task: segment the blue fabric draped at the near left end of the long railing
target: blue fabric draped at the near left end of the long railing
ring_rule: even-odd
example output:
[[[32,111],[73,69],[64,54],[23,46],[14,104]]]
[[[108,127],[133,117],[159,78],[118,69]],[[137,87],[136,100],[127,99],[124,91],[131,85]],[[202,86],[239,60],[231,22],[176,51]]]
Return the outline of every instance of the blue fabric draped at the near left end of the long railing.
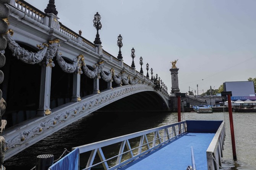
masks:
[[[51,170],[79,170],[78,167],[79,149],[76,148],[55,164],[50,166]]]

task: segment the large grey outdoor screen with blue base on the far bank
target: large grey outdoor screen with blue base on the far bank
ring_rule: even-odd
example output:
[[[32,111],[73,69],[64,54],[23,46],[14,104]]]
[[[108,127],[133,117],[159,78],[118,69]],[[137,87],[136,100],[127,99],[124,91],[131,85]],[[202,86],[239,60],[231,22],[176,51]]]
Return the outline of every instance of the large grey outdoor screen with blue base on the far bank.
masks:
[[[253,81],[231,81],[223,83],[224,91],[232,92],[232,98],[237,100],[255,100]]]

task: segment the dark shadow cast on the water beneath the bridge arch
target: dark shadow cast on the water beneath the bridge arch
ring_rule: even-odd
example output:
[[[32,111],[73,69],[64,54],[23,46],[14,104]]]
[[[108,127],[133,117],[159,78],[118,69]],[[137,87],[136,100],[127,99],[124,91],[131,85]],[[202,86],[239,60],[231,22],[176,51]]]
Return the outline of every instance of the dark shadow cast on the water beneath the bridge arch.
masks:
[[[16,154],[4,166],[8,170],[30,170],[40,154],[53,154],[57,160],[64,148],[71,151],[75,146],[161,126],[169,114],[165,111],[94,112]]]

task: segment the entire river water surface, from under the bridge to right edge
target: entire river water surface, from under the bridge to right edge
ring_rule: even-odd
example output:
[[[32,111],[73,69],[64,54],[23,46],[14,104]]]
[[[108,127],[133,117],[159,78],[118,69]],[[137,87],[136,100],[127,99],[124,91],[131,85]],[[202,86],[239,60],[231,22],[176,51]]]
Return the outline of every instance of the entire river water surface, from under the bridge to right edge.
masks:
[[[233,113],[237,160],[233,160],[228,112],[182,113],[181,120],[225,120],[226,140],[222,167],[232,170],[256,170],[256,113]],[[99,112],[50,135],[4,162],[6,170],[31,170],[36,156],[53,154],[58,159],[64,148],[105,140],[141,130],[177,122],[177,113],[170,112]]]

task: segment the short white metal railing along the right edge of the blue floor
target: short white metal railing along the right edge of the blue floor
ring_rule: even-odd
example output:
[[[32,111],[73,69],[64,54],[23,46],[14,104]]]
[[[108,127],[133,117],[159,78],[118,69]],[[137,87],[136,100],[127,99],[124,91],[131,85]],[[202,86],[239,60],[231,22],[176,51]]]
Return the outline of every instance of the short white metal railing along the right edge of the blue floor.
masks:
[[[223,121],[206,151],[208,170],[219,170],[225,136],[225,122]]]

